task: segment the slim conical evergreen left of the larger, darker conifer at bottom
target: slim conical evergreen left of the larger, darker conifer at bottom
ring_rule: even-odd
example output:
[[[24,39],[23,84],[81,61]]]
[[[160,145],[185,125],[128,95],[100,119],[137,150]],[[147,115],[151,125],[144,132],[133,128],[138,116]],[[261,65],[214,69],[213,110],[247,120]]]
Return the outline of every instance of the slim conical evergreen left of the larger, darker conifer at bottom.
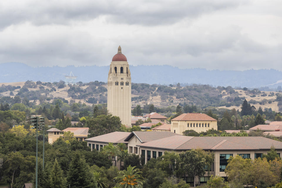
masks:
[[[53,164],[53,168],[49,175],[50,187],[63,188],[66,187],[66,178],[64,177],[63,170],[61,169],[57,159]]]

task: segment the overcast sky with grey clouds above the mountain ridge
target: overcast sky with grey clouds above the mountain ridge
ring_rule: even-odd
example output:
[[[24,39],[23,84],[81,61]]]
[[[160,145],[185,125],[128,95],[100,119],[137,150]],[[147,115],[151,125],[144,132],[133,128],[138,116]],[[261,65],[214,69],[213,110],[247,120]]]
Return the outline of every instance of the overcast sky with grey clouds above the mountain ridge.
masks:
[[[281,0],[0,1],[0,63],[282,70]]]

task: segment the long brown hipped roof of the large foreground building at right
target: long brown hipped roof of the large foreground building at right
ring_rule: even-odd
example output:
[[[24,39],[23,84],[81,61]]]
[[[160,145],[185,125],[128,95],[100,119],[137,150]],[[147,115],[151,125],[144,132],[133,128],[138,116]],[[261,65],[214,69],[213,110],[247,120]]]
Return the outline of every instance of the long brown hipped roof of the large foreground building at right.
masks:
[[[271,146],[282,149],[282,142],[265,137],[187,137],[172,136],[139,144],[167,150],[269,150]]]

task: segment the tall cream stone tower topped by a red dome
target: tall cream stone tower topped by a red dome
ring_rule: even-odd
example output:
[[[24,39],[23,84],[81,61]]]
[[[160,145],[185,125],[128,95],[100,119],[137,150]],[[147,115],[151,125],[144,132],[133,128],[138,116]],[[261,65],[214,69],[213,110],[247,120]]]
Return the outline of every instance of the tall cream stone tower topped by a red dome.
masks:
[[[131,75],[120,46],[110,64],[107,108],[120,117],[122,124],[131,127]]]

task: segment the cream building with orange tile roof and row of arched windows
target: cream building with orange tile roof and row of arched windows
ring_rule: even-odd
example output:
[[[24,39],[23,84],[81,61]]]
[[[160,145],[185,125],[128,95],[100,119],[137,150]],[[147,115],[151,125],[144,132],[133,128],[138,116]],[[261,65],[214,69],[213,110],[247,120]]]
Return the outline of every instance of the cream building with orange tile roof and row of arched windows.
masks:
[[[171,120],[170,131],[182,135],[185,130],[206,132],[209,129],[217,130],[217,120],[202,113],[184,113]]]

